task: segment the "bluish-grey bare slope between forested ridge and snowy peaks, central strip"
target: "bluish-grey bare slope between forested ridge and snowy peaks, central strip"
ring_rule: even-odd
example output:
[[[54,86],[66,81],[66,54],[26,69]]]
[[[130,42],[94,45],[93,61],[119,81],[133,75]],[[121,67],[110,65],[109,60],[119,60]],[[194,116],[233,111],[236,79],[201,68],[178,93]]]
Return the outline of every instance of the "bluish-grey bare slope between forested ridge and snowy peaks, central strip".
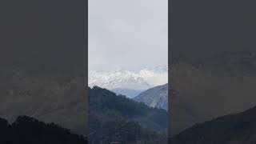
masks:
[[[168,110],[168,84],[146,90],[135,97],[134,100],[144,102],[147,106]]]

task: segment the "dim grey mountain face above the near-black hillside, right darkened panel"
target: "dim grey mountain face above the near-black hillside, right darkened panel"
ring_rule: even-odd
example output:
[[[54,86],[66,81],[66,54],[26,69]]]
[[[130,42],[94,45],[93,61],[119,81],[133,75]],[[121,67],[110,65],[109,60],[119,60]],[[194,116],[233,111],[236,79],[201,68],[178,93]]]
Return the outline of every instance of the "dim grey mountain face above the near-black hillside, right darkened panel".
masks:
[[[255,54],[250,51],[173,61],[170,136],[195,123],[256,106],[254,62]]]

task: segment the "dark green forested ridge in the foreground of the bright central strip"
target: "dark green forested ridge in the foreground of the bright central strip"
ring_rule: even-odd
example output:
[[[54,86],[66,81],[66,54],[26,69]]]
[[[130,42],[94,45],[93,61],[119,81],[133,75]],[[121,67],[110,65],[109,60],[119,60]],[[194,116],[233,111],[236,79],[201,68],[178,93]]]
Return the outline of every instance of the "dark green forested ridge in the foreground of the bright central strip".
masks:
[[[89,142],[167,143],[168,114],[97,86],[89,89]]]

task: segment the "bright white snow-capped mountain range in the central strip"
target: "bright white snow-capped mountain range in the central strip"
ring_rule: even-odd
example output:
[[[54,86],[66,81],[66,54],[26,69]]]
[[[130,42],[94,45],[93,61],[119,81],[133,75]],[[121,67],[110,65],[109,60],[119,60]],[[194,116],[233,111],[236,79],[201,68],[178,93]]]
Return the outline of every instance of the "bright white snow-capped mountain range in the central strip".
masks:
[[[89,86],[99,86],[108,90],[126,91],[126,96],[134,97],[134,94],[127,94],[127,91],[143,91],[154,86],[159,86],[168,81],[168,66],[156,66],[154,68],[143,68],[142,70],[113,70],[113,71],[90,71]]]

